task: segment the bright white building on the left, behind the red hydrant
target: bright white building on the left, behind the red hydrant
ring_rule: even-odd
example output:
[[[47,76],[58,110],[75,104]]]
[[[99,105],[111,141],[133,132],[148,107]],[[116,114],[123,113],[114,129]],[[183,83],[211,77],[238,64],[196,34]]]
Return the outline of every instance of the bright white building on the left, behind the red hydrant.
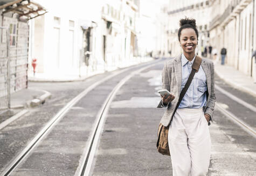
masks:
[[[84,57],[89,42],[88,55],[100,58],[101,6],[100,1],[91,3],[73,1],[41,1],[49,10],[43,16],[30,23],[30,62],[37,58],[36,72],[49,75],[77,76],[93,69],[93,60],[88,62]],[[61,8],[59,8],[61,4]],[[87,36],[86,36],[87,35]],[[92,45],[92,43],[94,45]],[[98,50],[97,50],[98,49]],[[92,55],[93,53],[93,55]],[[91,56],[92,55],[92,56]],[[90,68],[87,67],[90,63]]]

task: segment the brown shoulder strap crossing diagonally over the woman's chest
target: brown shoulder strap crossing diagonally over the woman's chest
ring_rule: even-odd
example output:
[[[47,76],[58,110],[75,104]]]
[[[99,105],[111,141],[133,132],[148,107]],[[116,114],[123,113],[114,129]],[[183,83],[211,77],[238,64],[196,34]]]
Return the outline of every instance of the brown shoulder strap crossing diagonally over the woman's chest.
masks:
[[[189,78],[186,81],[185,87],[182,89],[181,94],[179,94],[178,104],[175,107],[175,110],[174,110],[174,113],[172,114],[172,116],[175,114],[179,104],[181,104],[181,101],[182,101],[183,97],[185,96],[186,91],[189,89],[189,86],[192,82],[193,77],[195,76],[195,73],[198,72],[198,70],[200,68],[201,62],[202,62],[202,58],[199,56],[196,56],[195,61],[192,64],[192,71],[190,72]]]

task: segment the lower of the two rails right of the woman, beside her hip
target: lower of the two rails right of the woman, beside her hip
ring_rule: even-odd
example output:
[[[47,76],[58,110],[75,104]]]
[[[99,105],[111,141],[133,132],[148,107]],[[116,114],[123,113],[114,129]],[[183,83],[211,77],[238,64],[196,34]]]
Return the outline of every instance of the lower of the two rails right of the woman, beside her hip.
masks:
[[[215,103],[217,108],[221,113],[223,113],[225,116],[227,116],[230,120],[232,120],[234,123],[238,124],[241,128],[243,128],[248,134],[252,135],[256,138],[256,131],[250,127],[245,122],[241,121],[239,118],[237,118],[236,115],[232,114],[230,111],[227,111],[225,108],[223,108],[218,102]]]

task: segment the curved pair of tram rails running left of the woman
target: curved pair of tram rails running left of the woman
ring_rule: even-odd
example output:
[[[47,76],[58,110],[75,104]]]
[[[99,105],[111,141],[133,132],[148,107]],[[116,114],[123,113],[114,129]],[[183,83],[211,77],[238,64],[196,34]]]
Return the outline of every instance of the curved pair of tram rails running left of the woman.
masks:
[[[132,67],[132,68],[127,68],[127,69],[123,69],[121,71],[118,71],[118,72],[115,72],[113,75],[109,75],[108,77],[105,77],[103,78],[102,80],[99,80],[98,82],[94,83],[93,85],[89,86],[86,90],[82,91],[80,94],[78,94],[78,96],[76,96],[75,98],[73,98],[70,102],[68,102],[66,104],[65,107],[63,107],[45,126],[43,129],[41,129],[39,131],[39,133],[29,142],[29,144],[26,145],[26,147],[17,155],[16,158],[12,159],[12,162],[7,166],[5,167],[4,171],[2,172],[1,175],[3,176],[7,176],[7,175],[11,175],[11,173],[15,170],[15,168],[17,168],[17,166],[22,163],[22,161],[29,155],[29,153],[32,152],[32,150],[40,143],[41,140],[43,140],[43,138],[49,133],[49,131],[51,131],[52,128],[54,128],[55,124],[57,124],[62,118],[63,116],[65,116],[65,114],[70,110],[70,108],[72,106],[74,106],[81,98],[85,97],[86,94],[88,94],[90,91],[92,91],[95,87],[97,87],[98,85],[106,82],[108,79],[110,78],[113,78],[117,75],[120,75],[121,73],[125,72],[125,71],[129,71],[129,70],[132,70],[132,69],[136,69],[137,67],[143,67],[142,69],[139,69],[139,71],[141,70],[144,70],[146,68],[149,68],[151,67],[154,63],[156,62],[159,62],[159,61],[154,61],[154,62],[151,62],[151,63],[147,63],[147,64],[144,64],[144,65],[138,65],[136,67]],[[134,75],[136,74],[138,70],[136,71],[133,71],[132,74],[126,76],[125,78],[128,80],[129,78],[128,77],[132,77],[131,75]],[[100,112],[98,113],[98,118],[99,120],[97,120],[97,122],[95,123],[96,126],[94,127],[94,130],[96,131],[100,131],[98,129],[102,128],[102,123],[103,121],[100,120],[100,119],[103,119],[102,118],[102,115],[104,113],[106,113],[105,109],[109,106],[109,100],[113,99],[113,97],[115,96],[115,93],[116,91],[118,91],[120,89],[120,85],[121,83],[124,84],[126,81],[124,81],[124,79],[121,80],[121,82],[119,84],[117,84],[117,86],[115,87],[115,89],[113,89],[113,91],[109,94],[108,98],[106,99],[105,103],[103,104]],[[119,87],[120,86],[120,87]],[[118,88],[119,87],[119,88]],[[112,100],[111,100],[112,101]],[[100,125],[100,126],[99,126]],[[99,128],[100,127],[100,128]],[[99,133],[99,132],[98,132]],[[97,136],[99,136],[99,134],[97,133]],[[90,139],[90,141],[92,141],[91,143],[93,143],[94,145],[90,145],[89,147],[89,152],[87,153],[92,153],[92,149],[94,149],[94,152],[95,152],[95,141],[94,138],[96,136],[96,133],[93,131],[93,136],[91,137],[93,140]],[[88,158],[88,156],[91,156],[92,155],[86,155]],[[89,158],[88,158],[89,159]],[[87,165],[87,162],[85,163]],[[82,168],[86,168],[86,167],[82,167]],[[88,166],[87,166],[88,168]],[[91,168],[91,167],[90,167]],[[87,170],[84,170],[84,171],[87,171]],[[83,174],[84,173],[87,173],[87,172],[82,172]]]

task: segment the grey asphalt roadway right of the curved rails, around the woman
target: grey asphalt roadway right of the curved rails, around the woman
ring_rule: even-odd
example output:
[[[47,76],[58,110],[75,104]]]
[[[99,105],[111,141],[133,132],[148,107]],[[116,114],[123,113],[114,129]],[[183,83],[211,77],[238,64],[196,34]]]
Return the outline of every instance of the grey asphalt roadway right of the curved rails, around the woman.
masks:
[[[92,175],[172,175],[171,160],[156,151],[157,126],[164,109],[157,105],[162,65],[127,82],[112,103],[99,144]],[[226,91],[252,105],[255,98],[216,77]],[[255,113],[216,91],[217,101],[251,126]],[[215,111],[210,126],[212,151],[207,175],[254,175],[255,138]]]

